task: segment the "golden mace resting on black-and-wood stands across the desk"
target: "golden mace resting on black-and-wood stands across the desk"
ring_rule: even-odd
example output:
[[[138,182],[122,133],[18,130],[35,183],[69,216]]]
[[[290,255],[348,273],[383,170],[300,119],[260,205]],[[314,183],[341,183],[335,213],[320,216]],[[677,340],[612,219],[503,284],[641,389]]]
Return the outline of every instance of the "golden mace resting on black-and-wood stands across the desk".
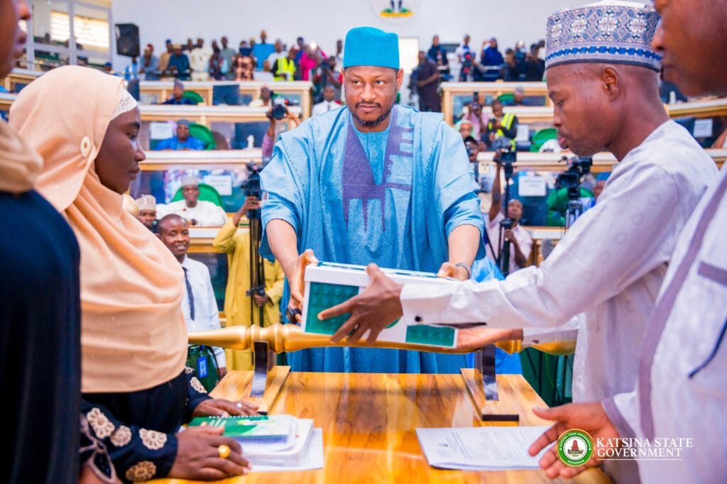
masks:
[[[287,378],[289,366],[275,366],[275,353],[294,352],[318,347],[374,347],[395,350],[415,350],[450,354],[465,354],[471,350],[432,347],[425,344],[364,342],[348,343],[345,340],[332,343],[326,334],[304,333],[300,326],[276,323],[266,328],[260,326],[229,326],[212,331],[196,331],[189,334],[189,344],[224,347],[230,350],[252,350],[255,355],[255,370],[250,381],[250,395],[260,405],[261,414],[272,408]],[[483,353],[485,360],[491,358],[494,365],[494,347],[478,350],[476,368],[461,368],[467,392],[481,416],[481,419],[494,422],[518,422],[518,408],[497,398],[497,383],[494,372],[483,373]],[[492,366],[494,368],[494,366]]]

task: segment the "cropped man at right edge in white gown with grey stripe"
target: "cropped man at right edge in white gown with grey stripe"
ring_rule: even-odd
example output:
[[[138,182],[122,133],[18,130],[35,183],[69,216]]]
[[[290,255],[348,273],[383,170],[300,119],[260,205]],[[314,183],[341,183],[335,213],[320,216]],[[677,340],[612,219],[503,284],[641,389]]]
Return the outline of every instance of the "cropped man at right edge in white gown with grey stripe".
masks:
[[[664,56],[664,78],[685,94],[727,94],[727,3],[673,0],[655,3],[662,15],[654,47]],[[700,49],[694,49],[695,45]],[[704,65],[713,66],[705,76]],[[531,446],[535,455],[579,428],[598,438],[691,439],[678,459],[638,459],[644,483],[723,483],[727,476],[727,170],[694,210],[682,231],[648,324],[635,389],[601,402],[537,411],[556,420]],[[600,203],[600,199],[599,199]],[[598,440],[595,440],[598,443]],[[631,445],[638,450],[638,446]],[[549,477],[572,477],[584,467],[566,467],[551,448],[540,461]],[[603,449],[603,450],[602,450]],[[613,448],[595,447],[599,453]],[[620,457],[620,456],[619,456]],[[589,461],[586,467],[599,462]]]

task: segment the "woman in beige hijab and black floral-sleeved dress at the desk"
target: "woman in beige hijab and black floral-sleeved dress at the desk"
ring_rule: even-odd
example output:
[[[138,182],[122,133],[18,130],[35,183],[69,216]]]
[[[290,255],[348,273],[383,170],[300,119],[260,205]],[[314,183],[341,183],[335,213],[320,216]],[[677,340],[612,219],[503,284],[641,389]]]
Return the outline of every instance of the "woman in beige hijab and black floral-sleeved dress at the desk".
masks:
[[[180,265],[123,209],[122,194],[145,158],[139,109],[123,81],[89,68],[52,70],[23,89],[10,119],[44,158],[37,189],[79,241],[81,413],[117,475],[211,480],[246,473],[240,445],[221,429],[177,433],[191,416],[254,408],[209,398],[185,368]]]

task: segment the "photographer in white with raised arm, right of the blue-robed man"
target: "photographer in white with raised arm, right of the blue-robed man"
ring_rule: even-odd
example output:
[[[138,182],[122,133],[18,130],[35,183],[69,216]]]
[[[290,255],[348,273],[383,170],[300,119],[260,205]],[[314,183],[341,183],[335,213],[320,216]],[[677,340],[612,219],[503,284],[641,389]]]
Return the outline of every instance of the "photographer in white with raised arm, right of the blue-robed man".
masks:
[[[487,254],[497,260],[497,255],[502,252],[502,246],[505,241],[510,241],[510,273],[514,273],[518,269],[522,269],[528,263],[530,250],[533,246],[533,239],[527,230],[523,229],[519,224],[523,217],[523,203],[513,198],[507,203],[507,217],[512,220],[513,225],[510,229],[502,230],[502,238],[500,238],[500,222],[505,220],[502,214],[502,193],[501,193],[501,175],[502,163],[500,162],[499,153],[495,156],[497,169],[495,170],[495,178],[492,183],[492,204],[489,211],[489,222],[486,224],[487,236],[490,243],[487,246]],[[497,254],[493,254],[494,246],[497,246]]]

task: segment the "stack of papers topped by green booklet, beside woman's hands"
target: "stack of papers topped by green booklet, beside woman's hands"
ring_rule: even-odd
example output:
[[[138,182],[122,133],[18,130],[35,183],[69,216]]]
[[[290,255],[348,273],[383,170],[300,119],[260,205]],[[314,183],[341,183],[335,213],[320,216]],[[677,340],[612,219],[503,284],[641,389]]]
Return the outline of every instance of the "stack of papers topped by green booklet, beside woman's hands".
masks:
[[[225,427],[222,435],[242,445],[253,471],[303,470],[323,467],[323,433],[312,419],[292,415],[197,417],[190,427]]]

